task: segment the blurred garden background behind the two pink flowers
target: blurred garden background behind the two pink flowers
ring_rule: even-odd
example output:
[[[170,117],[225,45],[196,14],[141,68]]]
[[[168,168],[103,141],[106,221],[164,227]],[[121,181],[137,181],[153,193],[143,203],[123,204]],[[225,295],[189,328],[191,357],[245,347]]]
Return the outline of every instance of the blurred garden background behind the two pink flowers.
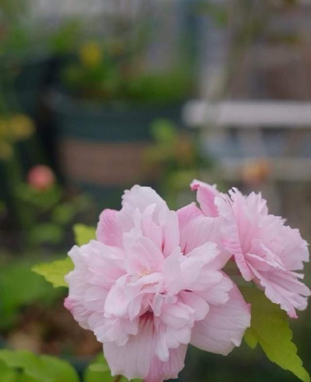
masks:
[[[261,191],[311,241],[310,20],[310,0],[0,0],[0,347],[83,375],[101,346],[30,268],[135,183],[171,208],[193,178]],[[245,344],[190,349],[179,377],[262,380],[296,381]]]

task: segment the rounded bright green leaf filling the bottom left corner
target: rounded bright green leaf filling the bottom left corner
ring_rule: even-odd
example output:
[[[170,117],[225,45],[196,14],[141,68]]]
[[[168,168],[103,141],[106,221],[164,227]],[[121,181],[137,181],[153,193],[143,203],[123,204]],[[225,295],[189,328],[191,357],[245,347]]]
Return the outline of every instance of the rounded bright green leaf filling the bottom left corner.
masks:
[[[0,350],[1,382],[78,382],[66,361],[27,350]]]

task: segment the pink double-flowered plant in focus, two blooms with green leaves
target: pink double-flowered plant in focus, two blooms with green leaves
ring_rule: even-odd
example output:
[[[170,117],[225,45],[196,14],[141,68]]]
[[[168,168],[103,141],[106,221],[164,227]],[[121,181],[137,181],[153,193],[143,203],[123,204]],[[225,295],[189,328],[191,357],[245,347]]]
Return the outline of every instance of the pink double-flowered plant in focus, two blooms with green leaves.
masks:
[[[86,381],[89,373],[101,381],[177,378],[189,344],[227,355],[242,339],[310,381],[288,323],[311,293],[300,272],[307,242],[268,213],[260,193],[221,193],[197,180],[191,189],[198,205],[173,211],[136,185],[124,192],[120,211],[104,209],[96,229],[74,227],[69,257],[33,268],[53,286],[69,287],[65,307],[103,344],[104,358],[87,369]],[[50,357],[2,350],[0,359],[7,373],[30,376],[25,381],[77,380]]]

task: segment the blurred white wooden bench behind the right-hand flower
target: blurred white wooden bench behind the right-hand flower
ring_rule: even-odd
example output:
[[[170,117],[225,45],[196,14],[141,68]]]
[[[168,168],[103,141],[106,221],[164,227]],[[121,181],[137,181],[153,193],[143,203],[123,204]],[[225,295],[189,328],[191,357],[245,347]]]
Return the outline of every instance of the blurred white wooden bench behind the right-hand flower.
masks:
[[[275,179],[311,180],[309,102],[190,101],[184,120],[202,129],[203,149],[225,179],[239,179],[245,163],[265,158]]]

